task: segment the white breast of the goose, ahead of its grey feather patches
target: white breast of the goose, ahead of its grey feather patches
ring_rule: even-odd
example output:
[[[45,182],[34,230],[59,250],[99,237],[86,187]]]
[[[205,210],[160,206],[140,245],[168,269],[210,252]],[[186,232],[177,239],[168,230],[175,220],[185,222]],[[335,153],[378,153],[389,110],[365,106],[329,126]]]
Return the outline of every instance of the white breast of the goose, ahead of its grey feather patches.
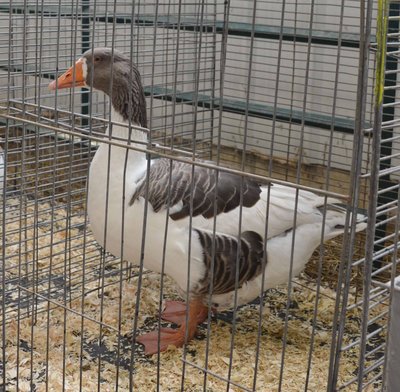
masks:
[[[127,130],[124,127],[114,126],[113,135],[116,134],[126,137]],[[135,136],[143,138],[142,133],[134,135],[133,138]],[[144,234],[145,268],[161,272],[164,262],[165,273],[185,291],[189,265],[189,231],[186,221],[175,222],[167,218],[166,210],[155,213],[150,204],[145,219],[143,198],[129,206],[137,182],[147,169],[147,160],[145,154],[133,150],[128,152],[126,160],[126,150],[101,144],[90,165],[87,210],[93,235],[108,252],[138,264]],[[126,170],[124,170],[125,165]],[[168,235],[164,254],[167,219]],[[143,233],[144,225],[145,233]],[[191,253],[190,281],[195,283],[205,274],[202,250],[197,236],[192,240]]]

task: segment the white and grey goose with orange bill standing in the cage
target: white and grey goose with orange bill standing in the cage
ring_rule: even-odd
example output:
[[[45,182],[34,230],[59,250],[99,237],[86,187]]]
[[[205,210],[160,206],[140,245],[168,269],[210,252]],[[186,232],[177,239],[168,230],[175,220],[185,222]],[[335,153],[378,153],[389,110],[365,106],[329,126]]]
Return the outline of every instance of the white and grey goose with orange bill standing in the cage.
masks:
[[[170,276],[187,299],[187,304],[167,301],[161,314],[178,328],[136,337],[146,354],[182,347],[194,338],[209,303],[215,310],[232,308],[257,298],[262,289],[286,283],[304,269],[321,238],[327,241],[346,230],[346,208],[335,199],[183,160],[149,163],[143,151],[148,135],[141,76],[116,49],[86,51],[49,84],[51,90],[71,87],[108,95],[108,135],[142,148],[100,143],[88,178],[94,238],[113,255],[138,262],[146,214],[143,266]],[[356,230],[365,227],[358,214]]]

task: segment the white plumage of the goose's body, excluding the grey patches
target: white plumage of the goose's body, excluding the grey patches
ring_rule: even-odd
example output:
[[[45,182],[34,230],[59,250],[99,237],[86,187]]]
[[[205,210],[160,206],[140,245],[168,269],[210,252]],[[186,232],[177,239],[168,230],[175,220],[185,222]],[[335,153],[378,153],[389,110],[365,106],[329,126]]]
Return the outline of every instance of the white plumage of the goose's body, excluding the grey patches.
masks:
[[[112,111],[111,119],[116,123],[126,122],[115,110]],[[127,138],[127,133],[128,126],[113,125],[113,137]],[[140,130],[133,130],[132,141],[145,142],[146,134]],[[132,144],[134,145],[134,142]],[[138,147],[143,148],[143,144],[139,144]],[[137,190],[138,183],[143,180],[147,170],[147,160],[144,153],[134,150],[129,150],[126,160],[126,151],[126,148],[110,147],[106,143],[102,143],[97,150],[89,173],[88,215],[94,237],[101,246],[115,256],[122,256],[125,260],[138,263],[142,249],[145,200],[143,197],[139,197],[133,204],[130,205],[129,202]],[[126,169],[124,170],[125,162]],[[123,198],[124,186],[125,197]],[[261,188],[260,199],[252,207],[242,208],[241,231],[254,231],[264,238],[268,201],[267,265],[264,273],[264,289],[287,282],[290,279],[290,268],[292,268],[292,277],[304,269],[313,251],[321,242],[323,216],[318,207],[323,206],[325,202],[324,197],[307,191],[299,191],[295,252],[291,262],[293,236],[291,229],[296,211],[295,188],[277,184]],[[172,206],[169,212],[180,208],[180,205]],[[144,266],[155,272],[162,271],[167,212],[168,209],[155,212],[152,205],[148,203]],[[236,239],[239,216],[239,207],[217,215],[216,233]],[[125,224],[122,249],[123,218]],[[107,229],[105,227],[106,219]],[[328,211],[324,240],[343,232],[341,229],[335,229],[335,226],[344,225],[344,219],[345,214],[342,211]],[[206,219],[201,215],[192,218],[194,229],[209,232],[210,235],[212,235],[213,224],[214,218]],[[176,281],[183,292],[187,288],[189,226],[189,217],[179,220],[168,217],[164,272]],[[206,266],[198,233],[192,231],[191,237],[190,287],[195,289],[206,274]],[[261,278],[262,273],[259,273],[258,276],[243,284],[238,292],[238,305],[245,304],[260,295]],[[214,305],[219,309],[230,308],[233,306],[233,296],[233,291],[217,294],[213,297]]]

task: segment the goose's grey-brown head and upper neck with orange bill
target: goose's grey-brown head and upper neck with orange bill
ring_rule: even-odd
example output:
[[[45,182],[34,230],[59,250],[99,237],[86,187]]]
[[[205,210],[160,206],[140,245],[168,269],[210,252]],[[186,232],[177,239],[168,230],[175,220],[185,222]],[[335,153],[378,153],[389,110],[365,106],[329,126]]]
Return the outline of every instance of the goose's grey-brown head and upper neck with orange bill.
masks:
[[[136,64],[111,48],[88,50],[57,80],[50,90],[87,87],[107,94],[125,121],[147,127],[146,100]]]

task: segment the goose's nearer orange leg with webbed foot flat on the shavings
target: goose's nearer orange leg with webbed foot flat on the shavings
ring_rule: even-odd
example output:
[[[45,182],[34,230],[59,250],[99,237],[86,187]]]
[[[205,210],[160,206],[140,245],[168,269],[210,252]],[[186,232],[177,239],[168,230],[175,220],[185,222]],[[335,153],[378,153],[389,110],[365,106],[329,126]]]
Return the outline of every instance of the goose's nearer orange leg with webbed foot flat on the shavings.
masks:
[[[170,345],[182,347],[185,344],[186,333],[186,342],[192,340],[196,335],[198,315],[206,313],[206,310],[207,307],[203,305],[202,301],[198,299],[193,300],[189,303],[189,318],[187,325],[186,320],[184,320],[178,329],[161,328],[160,331],[152,331],[137,337],[136,341],[144,345],[144,352],[147,355],[155,354],[159,350],[160,352],[165,351]],[[159,334],[160,337],[158,336]]]

